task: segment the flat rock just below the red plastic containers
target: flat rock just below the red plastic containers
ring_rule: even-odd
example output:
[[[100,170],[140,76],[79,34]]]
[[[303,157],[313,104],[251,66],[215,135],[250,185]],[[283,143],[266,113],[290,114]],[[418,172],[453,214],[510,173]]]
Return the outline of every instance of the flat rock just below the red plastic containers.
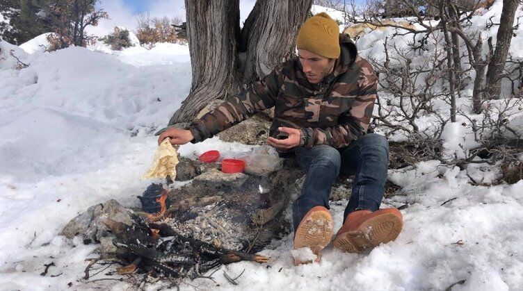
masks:
[[[218,169],[210,169],[193,180],[193,185],[210,191],[219,191],[224,188],[241,188],[248,176],[243,173],[225,174]]]

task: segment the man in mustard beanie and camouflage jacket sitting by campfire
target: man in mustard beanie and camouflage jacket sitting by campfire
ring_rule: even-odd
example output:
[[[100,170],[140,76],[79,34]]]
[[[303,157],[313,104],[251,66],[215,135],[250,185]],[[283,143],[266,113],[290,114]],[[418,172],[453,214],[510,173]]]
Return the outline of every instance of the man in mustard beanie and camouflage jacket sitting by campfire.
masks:
[[[339,175],[355,178],[335,248],[360,252],[396,239],[403,226],[399,210],[379,210],[389,146],[383,136],[366,134],[377,78],[348,35],[340,35],[338,29],[326,13],[310,17],[298,32],[298,58],[276,67],[188,129],[168,128],[158,139],[201,142],[275,106],[267,143],[280,156],[296,156],[306,173],[301,195],[292,205],[294,248],[311,249],[318,262],[332,238],[328,202]],[[307,262],[295,258],[295,263]]]

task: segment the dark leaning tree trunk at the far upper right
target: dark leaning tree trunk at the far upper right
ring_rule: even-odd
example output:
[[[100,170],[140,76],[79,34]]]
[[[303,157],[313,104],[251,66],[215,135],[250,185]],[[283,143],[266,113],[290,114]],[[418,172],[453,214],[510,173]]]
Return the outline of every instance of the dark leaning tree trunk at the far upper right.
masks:
[[[510,49],[513,35],[514,17],[519,5],[519,0],[504,0],[499,30],[497,31],[496,50],[488,64],[486,94],[490,99],[499,98],[501,94],[501,78],[505,69],[505,61]]]

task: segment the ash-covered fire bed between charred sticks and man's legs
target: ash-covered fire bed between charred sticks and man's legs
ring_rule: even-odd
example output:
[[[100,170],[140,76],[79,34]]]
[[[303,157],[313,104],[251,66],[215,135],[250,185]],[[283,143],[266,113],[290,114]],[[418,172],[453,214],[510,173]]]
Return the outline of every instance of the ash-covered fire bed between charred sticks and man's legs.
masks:
[[[175,231],[217,247],[254,252],[290,233],[283,210],[300,191],[303,172],[297,167],[281,165],[273,172],[247,167],[247,174],[224,174],[218,164],[183,159],[180,164],[201,174],[169,193],[172,206],[162,221]]]

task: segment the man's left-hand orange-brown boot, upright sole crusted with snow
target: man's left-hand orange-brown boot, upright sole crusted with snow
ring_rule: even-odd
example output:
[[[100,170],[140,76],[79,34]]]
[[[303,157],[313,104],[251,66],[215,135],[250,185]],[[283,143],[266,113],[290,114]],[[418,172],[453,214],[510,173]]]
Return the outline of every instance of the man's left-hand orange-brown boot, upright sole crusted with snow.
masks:
[[[294,249],[308,247],[316,255],[316,262],[321,260],[321,250],[332,239],[332,216],[323,206],[314,206],[301,219],[294,235]],[[303,260],[294,256],[294,265],[312,263],[312,260]]]

